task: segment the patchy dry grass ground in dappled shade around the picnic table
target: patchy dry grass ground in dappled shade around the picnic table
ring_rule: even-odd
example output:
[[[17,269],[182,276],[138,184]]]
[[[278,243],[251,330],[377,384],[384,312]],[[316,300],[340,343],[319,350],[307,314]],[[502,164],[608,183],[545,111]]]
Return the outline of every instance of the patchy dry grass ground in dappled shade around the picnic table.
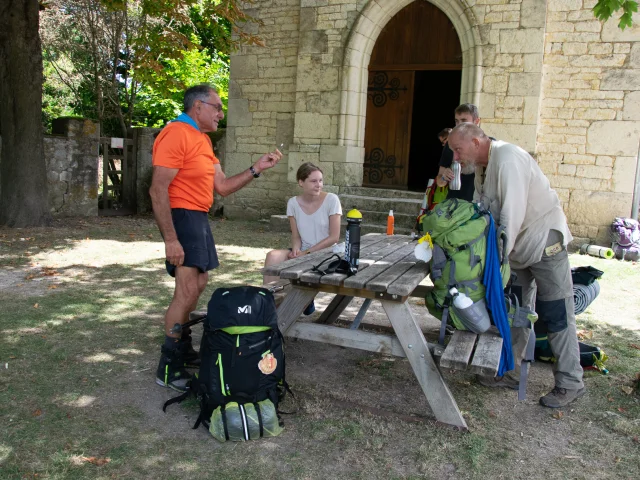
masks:
[[[213,232],[221,267],[201,307],[216,287],[259,284],[265,253],[289,241],[257,222],[217,220]],[[462,433],[433,421],[405,359],[290,341],[298,413],[280,437],[221,444],[191,430],[193,402],[161,410],[173,283],[151,218],[0,229],[0,478],[640,478],[640,266],[571,260],[605,271],[578,328],[610,373],[587,372],[569,408],[537,404],[552,387],[546,364],[524,402],[444,372]]]

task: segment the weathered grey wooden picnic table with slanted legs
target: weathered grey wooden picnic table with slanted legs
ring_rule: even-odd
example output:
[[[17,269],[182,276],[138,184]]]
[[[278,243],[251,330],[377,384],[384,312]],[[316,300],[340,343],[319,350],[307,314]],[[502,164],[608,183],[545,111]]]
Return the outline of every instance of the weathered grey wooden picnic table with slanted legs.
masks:
[[[415,245],[406,235],[365,235],[360,244],[360,267],[351,277],[336,273],[321,276],[313,271],[314,265],[332,254],[331,247],[265,267],[263,272],[288,279],[293,287],[278,307],[278,324],[284,335],[406,357],[436,419],[466,429],[407,302],[411,296],[424,298],[425,289],[419,284],[429,273],[429,265],[416,260]],[[336,296],[316,323],[297,322],[319,292]],[[351,328],[331,325],[354,297],[365,301]],[[357,330],[372,300],[382,304],[395,336]]]

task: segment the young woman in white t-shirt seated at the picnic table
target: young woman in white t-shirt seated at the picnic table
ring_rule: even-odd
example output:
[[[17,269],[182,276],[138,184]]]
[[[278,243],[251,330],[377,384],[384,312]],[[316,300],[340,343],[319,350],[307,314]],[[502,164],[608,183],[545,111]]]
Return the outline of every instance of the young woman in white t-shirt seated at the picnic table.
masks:
[[[322,191],[322,170],[313,163],[303,163],[298,168],[296,178],[302,193],[290,198],[287,203],[291,248],[271,250],[264,262],[265,267],[330,247],[340,238],[340,199],[334,193]],[[278,277],[265,276],[264,283],[277,279]],[[309,308],[305,313],[308,314],[308,310]]]

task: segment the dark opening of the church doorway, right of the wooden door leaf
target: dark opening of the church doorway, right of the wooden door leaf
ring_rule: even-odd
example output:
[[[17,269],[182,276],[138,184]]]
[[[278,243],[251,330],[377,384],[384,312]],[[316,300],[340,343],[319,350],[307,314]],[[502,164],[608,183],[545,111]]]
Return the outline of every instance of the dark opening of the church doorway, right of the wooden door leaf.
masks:
[[[461,70],[416,71],[411,122],[408,188],[424,191],[438,173],[442,145],[438,132],[453,128],[460,104]]]

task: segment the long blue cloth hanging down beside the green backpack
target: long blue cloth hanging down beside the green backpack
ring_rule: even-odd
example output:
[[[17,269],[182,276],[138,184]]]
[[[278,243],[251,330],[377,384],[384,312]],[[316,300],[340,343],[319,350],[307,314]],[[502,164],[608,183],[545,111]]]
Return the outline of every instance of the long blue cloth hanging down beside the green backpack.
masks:
[[[500,355],[500,367],[498,376],[504,375],[514,369],[513,349],[511,348],[511,329],[507,316],[507,306],[504,301],[504,289],[502,288],[502,273],[500,272],[500,255],[498,253],[498,231],[489,214],[489,234],[487,235],[487,255],[484,266],[482,283],[486,289],[485,299],[487,308],[493,317],[493,323],[502,336],[502,354]]]

